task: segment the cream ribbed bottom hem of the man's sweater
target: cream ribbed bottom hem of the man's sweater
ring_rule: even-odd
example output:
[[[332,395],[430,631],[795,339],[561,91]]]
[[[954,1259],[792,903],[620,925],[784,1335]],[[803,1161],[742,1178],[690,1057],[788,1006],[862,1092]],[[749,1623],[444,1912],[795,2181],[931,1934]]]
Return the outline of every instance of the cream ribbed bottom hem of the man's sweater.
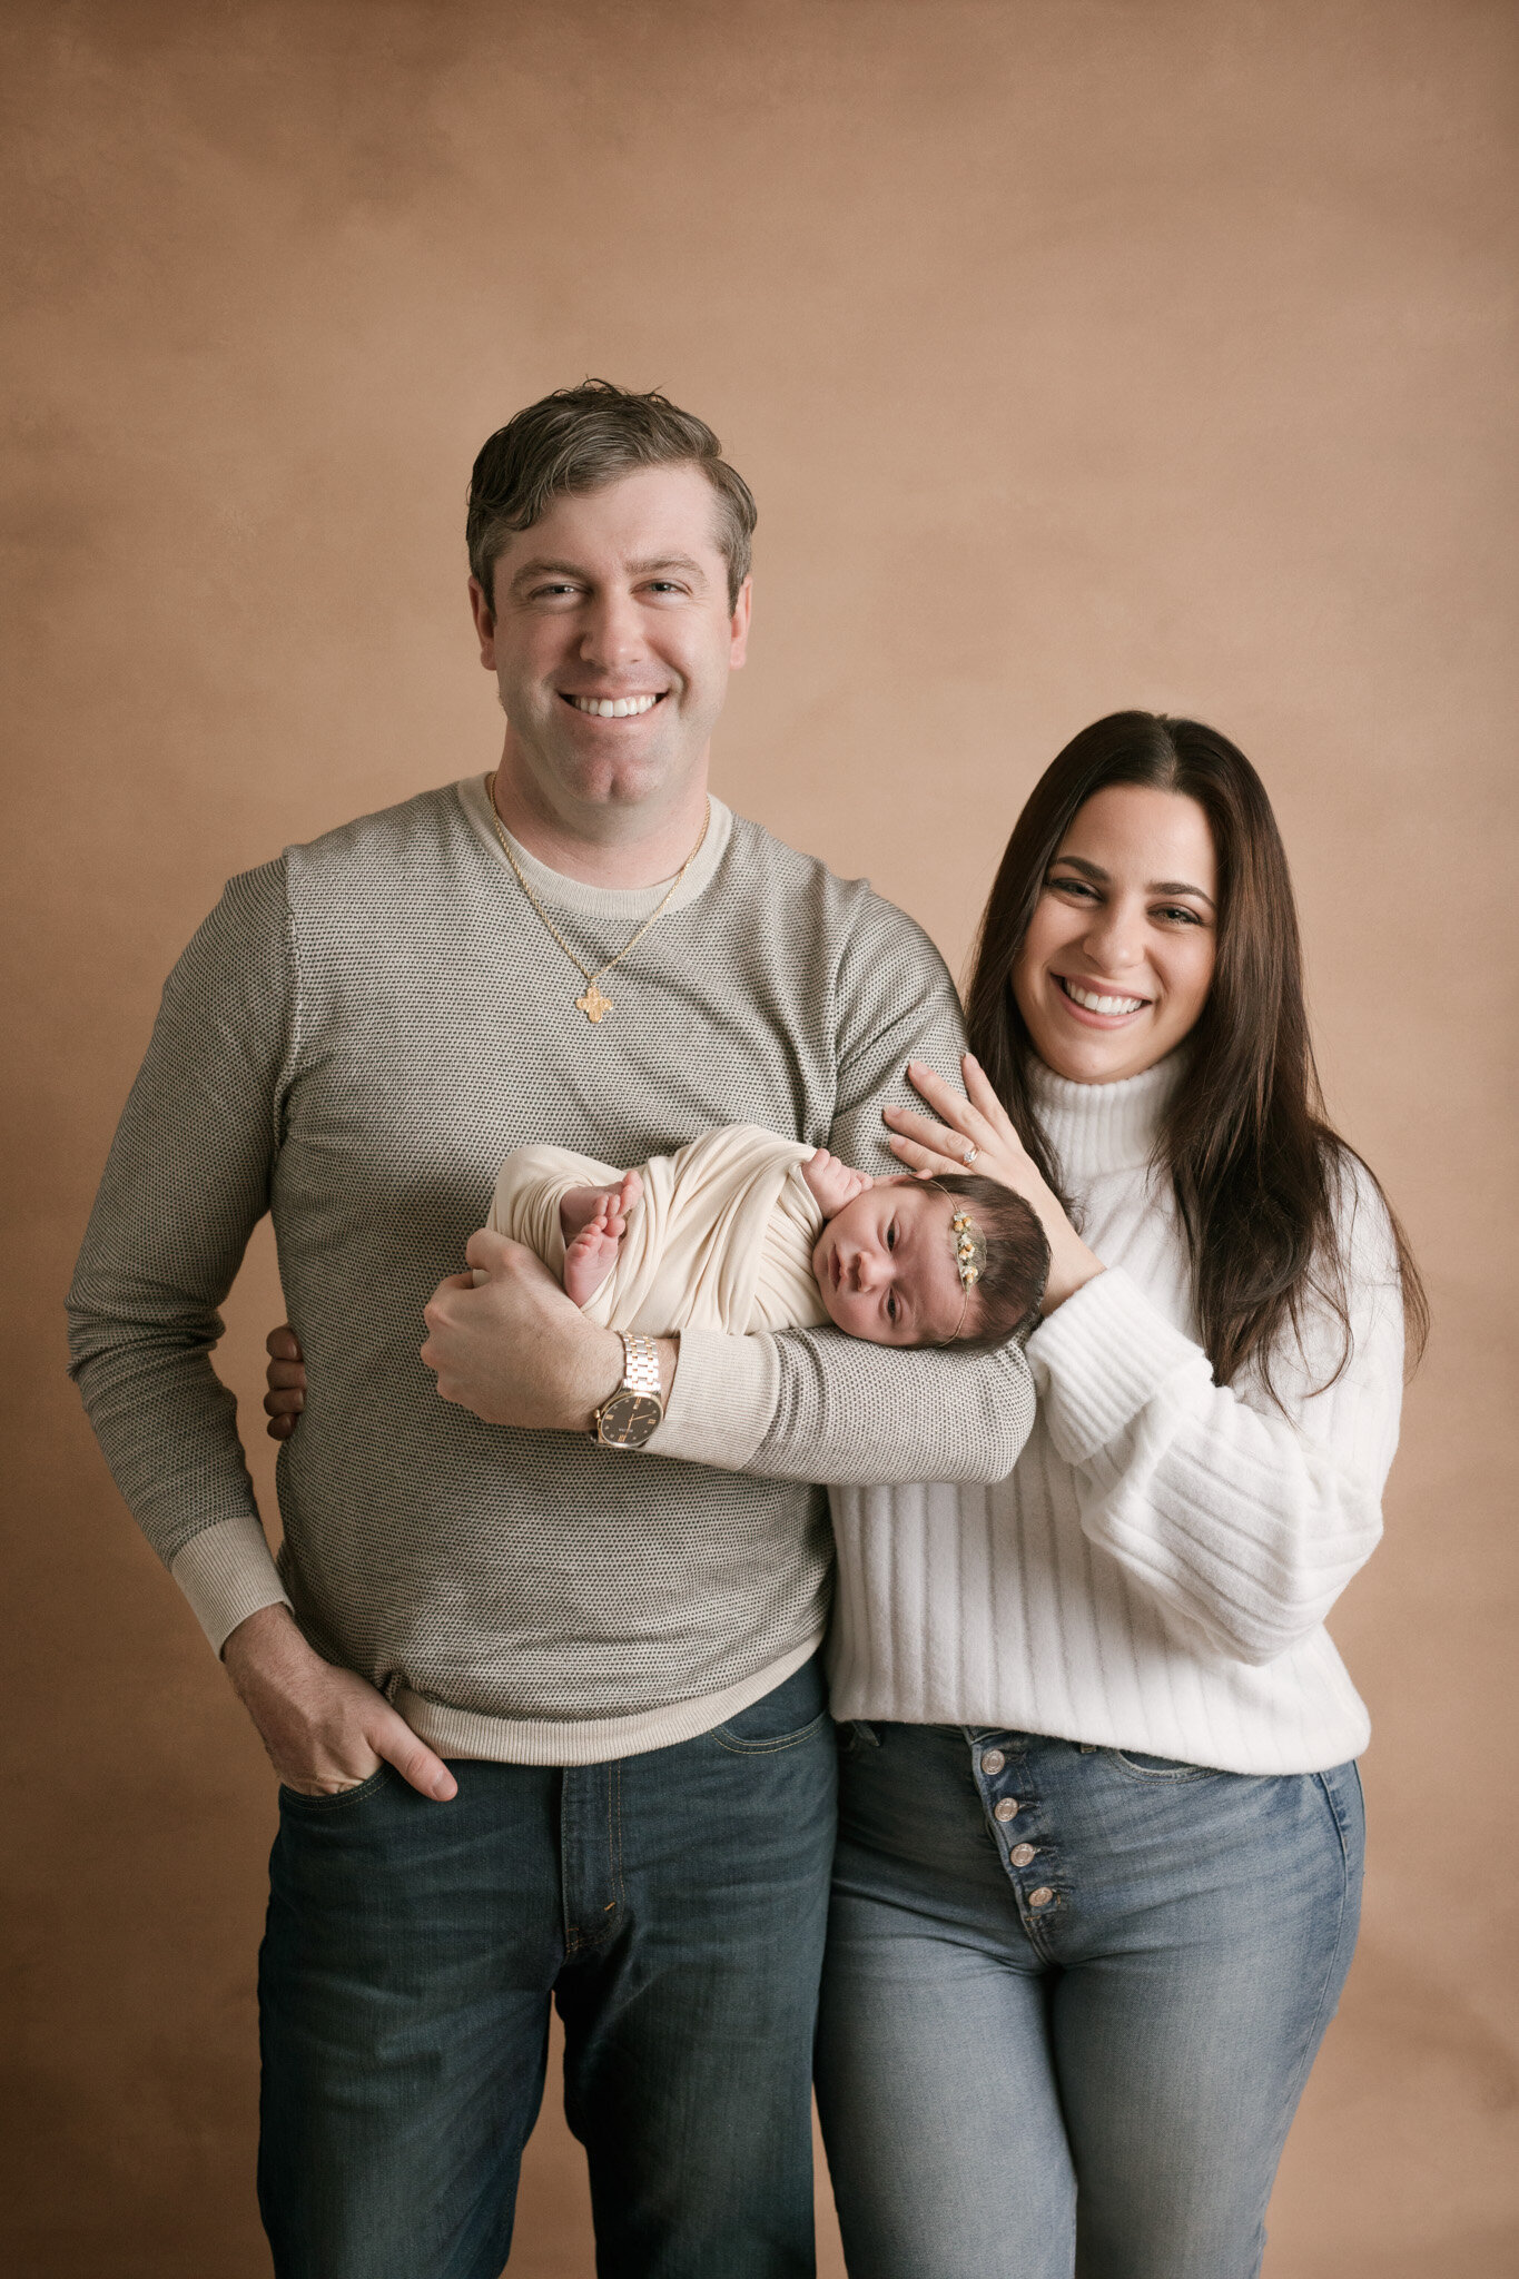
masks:
[[[396,1686],[392,1702],[412,1732],[440,1757],[474,1757],[490,1764],[608,1764],[613,1757],[638,1757],[676,1741],[697,1741],[774,1693],[822,1645],[822,1632],[793,1645],[779,1661],[767,1661],[749,1677],[738,1677],[717,1693],[667,1702],[658,1709],[635,1709],[629,1716],[599,1718],[508,1718],[483,1709],[453,1709],[412,1686]]]

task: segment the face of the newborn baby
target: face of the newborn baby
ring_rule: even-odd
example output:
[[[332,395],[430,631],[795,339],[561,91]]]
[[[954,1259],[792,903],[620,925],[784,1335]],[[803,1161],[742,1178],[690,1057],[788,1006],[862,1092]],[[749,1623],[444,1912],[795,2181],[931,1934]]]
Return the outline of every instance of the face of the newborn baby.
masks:
[[[961,1320],[950,1196],[915,1178],[865,1187],[813,1251],[822,1304],[870,1345],[947,1345]]]

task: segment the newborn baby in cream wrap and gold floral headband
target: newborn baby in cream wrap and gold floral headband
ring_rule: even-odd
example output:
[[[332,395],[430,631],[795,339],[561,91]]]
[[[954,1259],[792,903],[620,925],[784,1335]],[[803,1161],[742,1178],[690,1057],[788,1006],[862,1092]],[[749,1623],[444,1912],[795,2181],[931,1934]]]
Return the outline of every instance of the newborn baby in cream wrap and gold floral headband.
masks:
[[[490,1224],[604,1329],[651,1338],[836,1322],[872,1345],[1002,1345],[1043,1297],[1034,1210],[991,1178],[870,1178],[756,1124],[617,1171],[508,1155]]]

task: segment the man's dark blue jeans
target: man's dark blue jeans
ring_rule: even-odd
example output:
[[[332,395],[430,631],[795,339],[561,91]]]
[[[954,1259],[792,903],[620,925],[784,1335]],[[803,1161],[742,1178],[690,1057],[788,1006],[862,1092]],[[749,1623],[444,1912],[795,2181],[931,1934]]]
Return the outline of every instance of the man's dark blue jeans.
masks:
[[[808,1661],[729,1725],[569,1771],[280,1794],[260,2208],[280,2279],[499,2279],[549,2001],[601,2279],[813,2272],[836,1743]]]

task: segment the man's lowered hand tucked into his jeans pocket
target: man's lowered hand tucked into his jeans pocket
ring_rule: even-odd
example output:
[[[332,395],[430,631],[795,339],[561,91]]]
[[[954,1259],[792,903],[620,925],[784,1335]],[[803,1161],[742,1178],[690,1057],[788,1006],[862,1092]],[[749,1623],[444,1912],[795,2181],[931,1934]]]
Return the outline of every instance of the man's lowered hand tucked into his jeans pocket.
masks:
[[[337,1796],[369,1780],[380,1764],[394,1764],[421,1796],[437,1803],[458,1796],[442,1757],[417,1739],[383,1693],[353,1671],[323,1661],[296,1629],[289,1607],[251,1614],[221,1648],[221,1659],[287,1789]]]

